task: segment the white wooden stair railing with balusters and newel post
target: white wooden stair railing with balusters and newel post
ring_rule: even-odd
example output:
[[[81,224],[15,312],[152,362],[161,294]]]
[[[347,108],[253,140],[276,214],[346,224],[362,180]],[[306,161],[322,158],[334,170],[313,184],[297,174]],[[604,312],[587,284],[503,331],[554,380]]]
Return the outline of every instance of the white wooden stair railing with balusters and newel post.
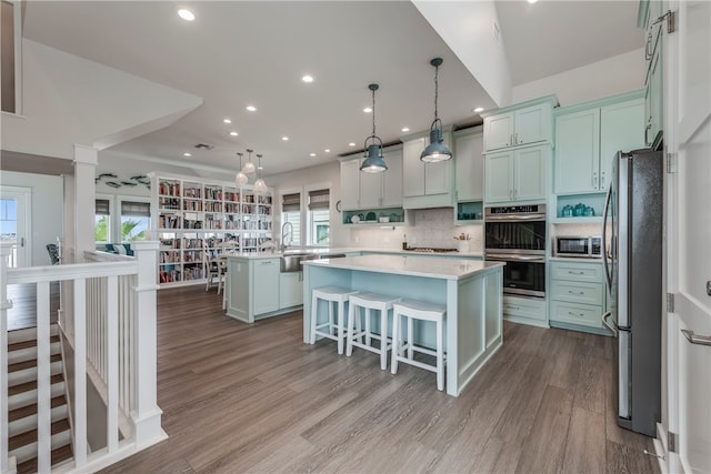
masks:
[[[7,284],[30,283],[37,288],[38,344],[38,472],[51,471],[49,291],[50,282],[71,288],[72,307],[60,319],[60,331],[73,349],[74,376],[69,393],[73,405],[72,462],[56,472],[93,472],[116,463],[167,437],[157,404],[156,258],[158,242],[132,244],[136,258],[111,259],[88,252],[86,261],[68,265],[8,269],[2,250],[0,303],[7,301]],[[62,293],[67,295],[67,293]],[[8,453],[7,310],[0,304],[0,473],[12,473]],[[63,322],[62,322],[63,320]],[[70,327],[70,331],[67,329]],[[103,383],[107,405],[107,445],[89,453],[87,438],[87,376]],[[119,430],[119,414],[130,430]]]

